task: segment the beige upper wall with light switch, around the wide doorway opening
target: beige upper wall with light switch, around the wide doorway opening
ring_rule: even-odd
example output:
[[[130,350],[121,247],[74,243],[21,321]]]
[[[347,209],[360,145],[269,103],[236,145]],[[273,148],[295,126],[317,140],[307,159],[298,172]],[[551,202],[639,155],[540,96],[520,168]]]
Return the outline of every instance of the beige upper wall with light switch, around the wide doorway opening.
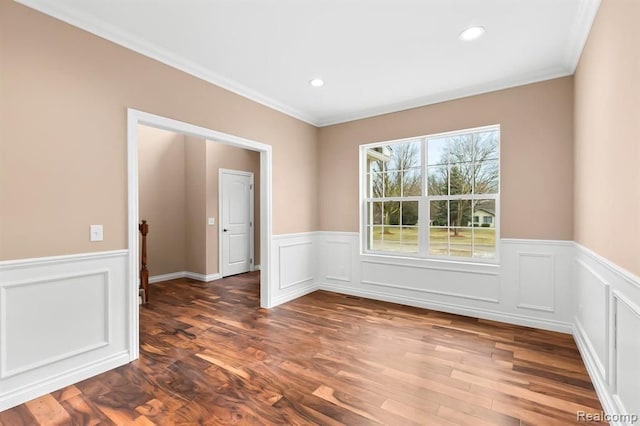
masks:
[[[0,55],[0,260],[127,248],[128,107],[272,145],[273,232],[318,229],[315,127],[11,1]]]

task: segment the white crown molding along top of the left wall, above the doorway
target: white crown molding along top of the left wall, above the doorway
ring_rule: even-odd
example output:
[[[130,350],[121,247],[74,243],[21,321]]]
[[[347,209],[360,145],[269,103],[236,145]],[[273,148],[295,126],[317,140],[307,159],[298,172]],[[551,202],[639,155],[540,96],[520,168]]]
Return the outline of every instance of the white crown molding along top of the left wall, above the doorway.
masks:
[[[155,46],[153,43],[149,43],[146,40],[140,37],[136,37],[135,35],[127,31],[122,31],[112,25],[108,25],[104,22],[93,19],[92,17],[84,13],[80,13],[77,11],[72,12],[67,8],[62,8],[59,4],[56,4],[55,2],[49,0],[15,1],[46,15],[52,16],[60,21],[66,22],[67,24],[73,25],[74,27],[78,27],[91,34],[104,38],[105,40],[109,40],[141,55],[147,56],[151,59],[155,59],[156,61],[162,62],[163,64],[169,65],[170,67],[173,67],[177,70],[183,71],[194,77],[198,77],[208,83],[219,86],[244,98],[264,105],[268,108],[279,111],[293,118],[297,118],[298,120],[304,121],[305,123],[318,126],[318,123],[316,122],[316,120],[314,120],[313,117],[305,114],[302,111],[299,111],[272,98],[264,96],[257,91],[250,89],[232,79],[214,73],[211,70],[193,61],[189,61],[188,59],[176,55],[175,53],[169,52],[165,49],[161,49]]]

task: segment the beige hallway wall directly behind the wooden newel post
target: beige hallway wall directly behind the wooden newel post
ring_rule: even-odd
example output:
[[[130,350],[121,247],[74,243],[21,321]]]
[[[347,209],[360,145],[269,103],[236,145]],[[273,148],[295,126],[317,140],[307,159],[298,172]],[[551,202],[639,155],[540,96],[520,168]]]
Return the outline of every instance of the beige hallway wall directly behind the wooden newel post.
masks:
[[[182,135],[138,127],[139,212],[149,223],[151,275],[185,270],[185,144]]]

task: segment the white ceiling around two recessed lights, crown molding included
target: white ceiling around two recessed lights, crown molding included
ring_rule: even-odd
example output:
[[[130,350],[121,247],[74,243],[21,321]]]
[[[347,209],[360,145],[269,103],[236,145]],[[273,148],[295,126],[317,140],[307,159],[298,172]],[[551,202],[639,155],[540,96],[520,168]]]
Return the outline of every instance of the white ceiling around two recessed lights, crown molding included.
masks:
[[[600,4],[18,1],[316,126],[573,74]]]

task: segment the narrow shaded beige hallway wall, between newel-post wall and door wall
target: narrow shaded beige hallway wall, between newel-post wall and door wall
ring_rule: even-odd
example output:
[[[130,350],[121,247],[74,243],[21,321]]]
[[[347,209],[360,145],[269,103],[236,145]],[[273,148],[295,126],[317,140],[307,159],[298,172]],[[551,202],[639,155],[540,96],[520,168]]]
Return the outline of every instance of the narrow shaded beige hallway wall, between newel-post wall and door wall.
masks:
[[[207,273],[207,156],[205,140],[184,138],[186,271]]]

